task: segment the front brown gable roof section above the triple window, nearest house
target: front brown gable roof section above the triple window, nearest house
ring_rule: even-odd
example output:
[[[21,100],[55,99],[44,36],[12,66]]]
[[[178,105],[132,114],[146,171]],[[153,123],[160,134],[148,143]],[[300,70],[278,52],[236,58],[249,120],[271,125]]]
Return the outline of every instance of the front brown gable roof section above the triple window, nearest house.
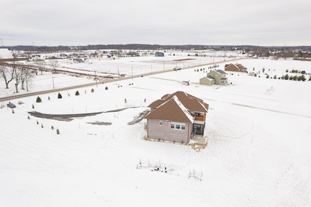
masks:
[[[194,116],[178,100],[177,96],[173,96],[147,114],[145,119],[193,123]]]

